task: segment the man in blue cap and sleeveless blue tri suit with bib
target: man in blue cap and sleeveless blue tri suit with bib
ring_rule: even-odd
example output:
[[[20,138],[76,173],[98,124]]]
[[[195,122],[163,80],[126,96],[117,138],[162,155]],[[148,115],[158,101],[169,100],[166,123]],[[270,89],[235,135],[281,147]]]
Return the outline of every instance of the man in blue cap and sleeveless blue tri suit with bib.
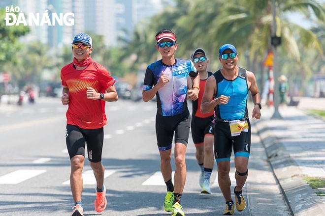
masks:
[[[236,209],[243,211],[246,202],[242,193],[248,175],[248,158],[251,145],[251,124],[248,118],[247,95],[251,91],[253,118],[260,119],[260,94],[255,75],[237,67],[238,54],[233,45],[225,44],[219,49],[222,68],[211,76],[205,86],[201,110],[215,110],[214,152],[218,165],[219,187],[226,199],[224,215],[234,214],[230,193],[230,155],[235,154],[234,188]],[[211,100],[215,97],[214,100]]]

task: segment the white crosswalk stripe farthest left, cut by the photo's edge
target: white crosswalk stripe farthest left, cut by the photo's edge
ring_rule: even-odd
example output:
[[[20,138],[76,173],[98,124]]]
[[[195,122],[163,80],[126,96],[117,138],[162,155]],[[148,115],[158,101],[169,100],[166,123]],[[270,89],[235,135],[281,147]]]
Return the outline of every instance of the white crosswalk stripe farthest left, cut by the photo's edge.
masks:
[[[16,185],[46,172],[45,169],[19,169],[0,177],[0,184]]]

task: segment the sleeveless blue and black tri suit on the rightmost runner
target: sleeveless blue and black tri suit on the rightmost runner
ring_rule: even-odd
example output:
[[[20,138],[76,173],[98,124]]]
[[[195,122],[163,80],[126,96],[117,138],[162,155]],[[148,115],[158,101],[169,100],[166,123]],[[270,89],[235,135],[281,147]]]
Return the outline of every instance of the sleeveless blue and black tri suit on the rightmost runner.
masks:
[[[246,70],[239,68],[234,80],[227,80],[218,70],[213,74],[217,83],[216,98],[230,96],[227,104],[215,108],[216,123],[214,129],[214,153],[217,162],[230,161],[232,146],[235,157],[249,158],[251,146],[251,124],[248,118],[247,96],[248,84]],[[246,121],[248,131],[240,135],[231,135],[230,123],[233,120]],[[247,125],[246,124],[246,125]]]

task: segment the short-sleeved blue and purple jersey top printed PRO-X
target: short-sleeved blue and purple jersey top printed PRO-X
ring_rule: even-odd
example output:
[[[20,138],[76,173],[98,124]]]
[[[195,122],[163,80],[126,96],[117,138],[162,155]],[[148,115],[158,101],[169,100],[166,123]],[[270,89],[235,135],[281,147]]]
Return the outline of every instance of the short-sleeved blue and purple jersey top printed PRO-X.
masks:
[[[159,81],[161,74],[167,75],[169,82],[157,92],[157,112],[163,116],[173,116],[188,110],[187,77],[197,76],[191,60],[176,58],[173,65],[165,65],[162,59],[148,65],[143,82],[143,90],[150,90]]]

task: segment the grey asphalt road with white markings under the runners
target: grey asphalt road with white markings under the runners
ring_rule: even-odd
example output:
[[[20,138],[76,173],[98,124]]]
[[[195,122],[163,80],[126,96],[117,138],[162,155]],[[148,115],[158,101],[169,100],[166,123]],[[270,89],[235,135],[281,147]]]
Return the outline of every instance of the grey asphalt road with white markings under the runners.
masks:
[[[73,199],[67,182],[70,164],[65,150],[65,110],[59,99],[49,98],[39,99],[34,105],[0,108],[0,216],[69,216]],[[106,113],[102,162],[108,205],[101,214],[94,210],[96,184],[86,162],[82,194],[85,216],[170,215],[162,208],[166,188],[159,176],[156,103],[119,100],[107,103]],[[289,216],[254,121],[252,125],[249,176],[243,190],[248,208],[235,214]],[[233,190],[233,158],[231,162]],[[199,193],[199,167],[192,138],[186,163],[188,175],[181,200],[186,216],[222,215],[225,200],[216,182],[216,165],[211,177],[213,194]]]

